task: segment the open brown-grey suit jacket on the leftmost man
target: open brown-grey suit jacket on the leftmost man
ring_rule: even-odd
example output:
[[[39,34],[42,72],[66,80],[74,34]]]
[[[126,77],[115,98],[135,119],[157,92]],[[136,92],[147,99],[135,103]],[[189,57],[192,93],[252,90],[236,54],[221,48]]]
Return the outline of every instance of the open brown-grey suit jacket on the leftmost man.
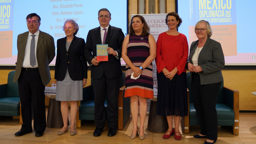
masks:
[[[20,77],[27,38],[28,38],[28,31],[18,35],[18,39],[17,39],[18,57],[17,57],[17,63],[16,63],[13,82],[16,82]],[[49,64],[55,57],[55,45],[54,45],[53,37],[42,31],[40,31],[38,36],[36,57],[37,57],[38,69],[39,69],[42,82],[46,86],[51,80]]]

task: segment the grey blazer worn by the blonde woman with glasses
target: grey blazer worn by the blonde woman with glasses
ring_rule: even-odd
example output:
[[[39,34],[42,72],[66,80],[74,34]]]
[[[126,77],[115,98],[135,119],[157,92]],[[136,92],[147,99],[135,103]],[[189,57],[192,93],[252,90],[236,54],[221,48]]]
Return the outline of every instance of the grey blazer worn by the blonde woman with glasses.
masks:
[[[198,41],[192,42],[190,46],[190,53],[188,62],[192,63],[192,56],[195,53]],[[193,63],[192,63],[193,64]],[[203,49],[198,56],[198,65],[203,69],[200,72],[201,85],[212,84],[223,81],[221,69],[225,65],[224,54],[219,42],[207,38]],[[190,73],[190,81],[192,80],[192,73]]]

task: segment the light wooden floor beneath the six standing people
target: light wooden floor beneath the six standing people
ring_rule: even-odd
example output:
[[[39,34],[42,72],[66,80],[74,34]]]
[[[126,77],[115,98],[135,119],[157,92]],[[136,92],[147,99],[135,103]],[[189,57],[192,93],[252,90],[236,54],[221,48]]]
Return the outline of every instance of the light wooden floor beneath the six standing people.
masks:
[[[48,108],[46,108],[47,114]],[[256,113],[240,113],[239,114],[239,135],[233,135],[227,127],[218,129],[218,140],[216,144],[256,144]],[[69,111],[70,120],[70,111]],[[144,127],[147,128],[148,115],[146,117]],[[173,122],[174,124],[174,122]],[[138,125],[140,126],[139,119]],[[71,136],[69,131],[63,135],[57,135],[60,128],[46,128],[42,137],[35,137],[35,131],[24,136],[14,136],[20,130],[21,124],[19,119],[12,117],[0,117],[0,143],[1,144],[203,144],[205,139],[193,138],[198,134],[200,129],[198,126],[191,126],[189,134],[183,134],[180,126],[182,138],[180,141],[174,139],[174,136],[164,140],[163,133],[151,133],[145,130],[146,138],[140,140],[139,137],[131,140],[130,134],[133,128],[132,117],[130,116],[123,130],[118,130],[117,135],[108,137],[107,124],[104,131],[99,137],[93,136],[96,123],[87,121],[81,128],[77,128],[77,134]],[[32,122],[33,127],[33,122]],[[70,127],[70,126],[69,126]]]

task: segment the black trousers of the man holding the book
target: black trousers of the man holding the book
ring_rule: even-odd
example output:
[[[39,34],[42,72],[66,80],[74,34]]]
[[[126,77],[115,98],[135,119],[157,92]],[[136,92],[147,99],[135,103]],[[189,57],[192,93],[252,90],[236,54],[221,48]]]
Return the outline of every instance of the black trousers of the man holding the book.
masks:
[[[120,77],[109,79],[103,74],[100,79],[92,78],[94,92],[95,112],[94,118],[97,127],[103,128],[106,114],[104,102],[107,97],[107,124],[108,127],[116,127],[118,121],[118,94],[120,88]]]

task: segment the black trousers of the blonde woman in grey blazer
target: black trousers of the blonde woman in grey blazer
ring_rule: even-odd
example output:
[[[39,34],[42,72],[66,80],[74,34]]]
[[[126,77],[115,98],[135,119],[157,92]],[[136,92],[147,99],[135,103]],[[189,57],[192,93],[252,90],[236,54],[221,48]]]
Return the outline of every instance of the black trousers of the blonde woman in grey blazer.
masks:
[[[207,139],[210,140],[218,138],[218,118],[215,107],[220,85],[221,82],[201,85],[200,75],[193,74],[191,90],[194,107],[200,123],[200,133],[207,135]]]

